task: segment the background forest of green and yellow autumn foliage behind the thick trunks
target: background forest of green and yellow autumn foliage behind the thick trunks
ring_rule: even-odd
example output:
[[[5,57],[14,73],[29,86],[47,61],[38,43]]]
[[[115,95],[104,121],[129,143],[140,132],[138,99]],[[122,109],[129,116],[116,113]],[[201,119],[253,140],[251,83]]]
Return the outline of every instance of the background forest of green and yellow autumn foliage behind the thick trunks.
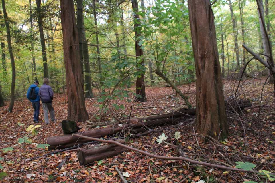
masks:
[[[50,79],[55,92],[66,90],[60,2],[39,1],[6,1],[15,57],[16,98],[25,96],[29,85],[44,77]],[[271,40],[274,36],[273,4],[268,0],[263,4]],[[141,35],[138,44],[144,52],[146,85],[164,83],[154,73],[152,64],[176,85],[195,81],[187,2],[142,0],[139,6]],[[212,8],[223,77],[236,79],[242,66],[251,58],[241,46],[243,43],[255,53],[264,53],[257,3],[215,1]],[[131,2],[77,0],[75,10],[86,98],[93,95],[90,83],[97,93],[123,78],[127,78],[120,83],[124,86],[135,83],[138,69],[133,56],[135,34]],[[5,22],[1,16],[1,91],[3,99],[9,100],[11,64]],[[258,73],[268,76],[262,64],[250,62],[245,74],[254,77]]]

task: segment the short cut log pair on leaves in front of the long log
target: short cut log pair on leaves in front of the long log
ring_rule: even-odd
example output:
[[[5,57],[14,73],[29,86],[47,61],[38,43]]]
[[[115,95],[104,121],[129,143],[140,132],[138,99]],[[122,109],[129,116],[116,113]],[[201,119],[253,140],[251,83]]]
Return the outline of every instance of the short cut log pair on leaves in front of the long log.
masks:
[[[122,139],[117,139],[115,141],[121,144],[125,144],[125,141]],[[101,143],[88,148],[80,148],[77,151],[77,157],[80,165],[85,165],[97,160],[107,158],[109,156],[116,156],[124,152],[125,150],[125,148],[117,146],[116,144],[102,145]]]

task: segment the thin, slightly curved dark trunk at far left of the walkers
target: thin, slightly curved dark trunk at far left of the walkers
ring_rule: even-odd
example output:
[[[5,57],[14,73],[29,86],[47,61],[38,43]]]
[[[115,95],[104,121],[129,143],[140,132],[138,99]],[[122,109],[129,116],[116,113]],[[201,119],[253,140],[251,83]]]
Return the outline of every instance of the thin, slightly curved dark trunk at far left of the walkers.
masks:
[[[9,48],[9,56],[11,58],[11,103],[9,104],[9,111],[12,111],[13,105],[14,105],[14,100],[15,100],[15,77],[16,77],[16,72],[15,72],[15,62],[14,62],[14,57],[13,57],[13,52],[12,52],[12,46],[11,46],[11,30],[9,28],[9,18],[7,15],[6,11],[6,5],[5,5],[5,0],[1,0],[2,2],[2,9],[3,9],[3,14],[4,14],[4,19],[5,19],[5,24],[7,28],[7,42],[8,42],[8,48]]]

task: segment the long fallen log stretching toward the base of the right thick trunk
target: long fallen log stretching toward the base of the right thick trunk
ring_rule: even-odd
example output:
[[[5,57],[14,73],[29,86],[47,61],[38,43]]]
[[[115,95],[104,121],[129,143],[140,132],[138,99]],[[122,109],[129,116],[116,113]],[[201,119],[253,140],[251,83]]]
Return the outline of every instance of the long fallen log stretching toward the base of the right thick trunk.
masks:
[[[149,130],[155,126],[164,125],[164,124],[175,124],[178,122],[182,122],[186,120],[187,118],[190,118],[196,114],[195,109],[181,109],[178,111],[172,111],[166,114],[160,114],[157,116],[145,116],[140,117],[136,119],[130,120],[130,122],[127,122],[126,124],[123,124],[122,126],[114,126],[109,128],[101,128],[96,130],[88,130],[83,132],[76,132],[75,134],[88,136],[88,137],[94,137],[94,138],[101,138],[104,136],[112,136],[117,134],[118,132],[121,132],[122,130],[125,130],[125,132],[129,132],[129,130],[132,130],[132,132],[144,132],[146,130]],[[64,134],[61,136],[54,136],[54,137],[48,137],[47,138],[47,144],[48,150],[53,150],[55,148],[69,148],[72,146],[76,146],[79,143],[86,143],[89,142],[87,139],[79,139],[76,136],[72,136],[71,134]]]

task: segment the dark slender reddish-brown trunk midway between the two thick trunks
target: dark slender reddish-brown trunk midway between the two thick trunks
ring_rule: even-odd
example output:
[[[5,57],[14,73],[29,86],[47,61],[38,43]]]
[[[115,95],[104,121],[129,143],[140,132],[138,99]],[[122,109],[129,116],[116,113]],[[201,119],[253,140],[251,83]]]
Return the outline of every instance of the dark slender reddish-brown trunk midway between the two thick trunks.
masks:
[[[135,55],[140,57],[143,55],[142,45],[139,45],[138,42],[140,41],[141,33],[140,33],[140,17],[138,13],[138,3],[137,0],[132,0],[132,8],[134,12],[134,30],[135,30]],[[144,59],[142,60],[137,59],[137,68],[142,67],[142,70],[137,69],[137,71],[141,71],[139,77],[136,80],[136,100],[140,102],[146,102],[146,94],[145,94],[145,83],[144,83]]]

